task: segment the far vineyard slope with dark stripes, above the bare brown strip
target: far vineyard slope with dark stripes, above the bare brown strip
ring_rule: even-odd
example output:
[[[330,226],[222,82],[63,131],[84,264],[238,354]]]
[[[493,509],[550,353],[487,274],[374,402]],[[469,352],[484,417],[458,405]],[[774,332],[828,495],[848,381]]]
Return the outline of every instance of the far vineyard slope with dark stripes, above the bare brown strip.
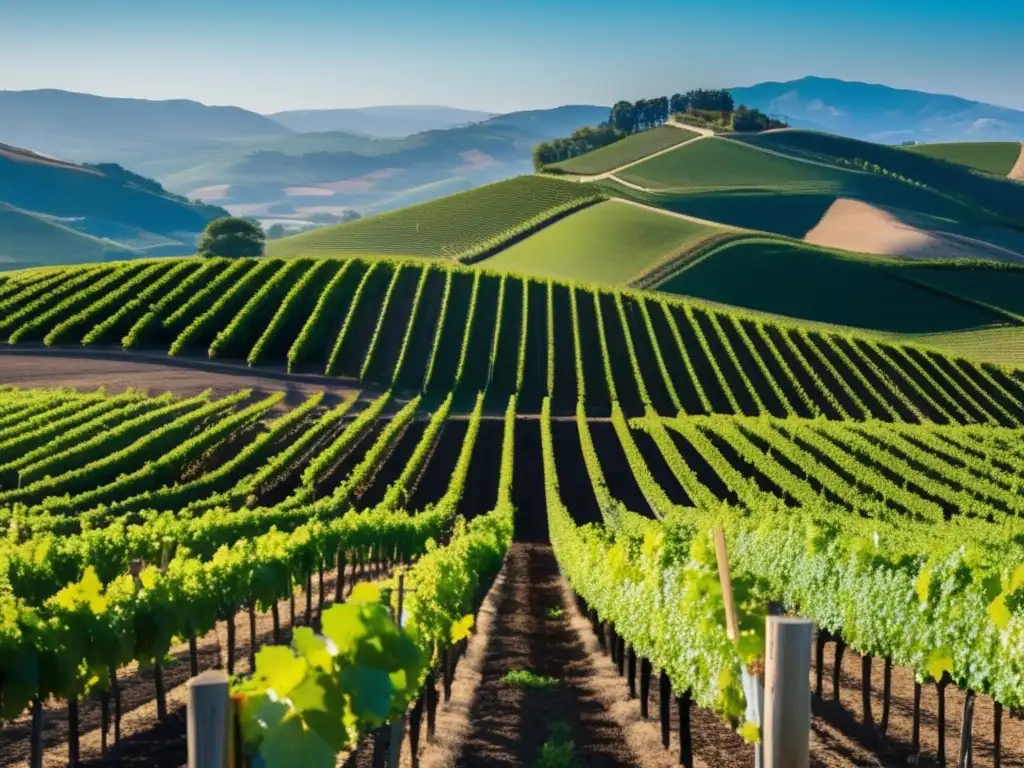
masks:
[[[127,262],[8,281],[0,285],[8,312],[0,330],[14,348],[87,341],[251,365],[287,361],[293,371],[408,393],[486,392],[499,406],[518,394],[531,409],[550,396],[569,412],[586,399],[595,414],[617,401],[632,416],[652,408],[1024,424],[1021,383],[991,366],[664,296],[387,259],[161,265],[191,269],[194,280],[203,269],[220,271],[207,275],[210,290],[189,290],[185,278],[180,293],[148,311],[143,303],[129,317],[125,296],[167,273]],[[852,280],[843,280],[857,296]],[[970,304],[962,313],[965,324],[984,317]],[[111,333],[115,327],[128,329],[123,338]]]

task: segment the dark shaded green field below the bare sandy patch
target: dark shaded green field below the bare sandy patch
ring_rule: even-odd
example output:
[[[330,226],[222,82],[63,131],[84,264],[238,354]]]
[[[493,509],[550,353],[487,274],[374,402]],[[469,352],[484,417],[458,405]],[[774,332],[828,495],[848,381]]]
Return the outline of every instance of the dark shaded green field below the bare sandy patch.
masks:
[[[882,257],[751,238],[712,251],[658,290],[800,319],[904,334],[977,329],[1004,319],[902,281],[896,276],[899,269],[898,262]]]

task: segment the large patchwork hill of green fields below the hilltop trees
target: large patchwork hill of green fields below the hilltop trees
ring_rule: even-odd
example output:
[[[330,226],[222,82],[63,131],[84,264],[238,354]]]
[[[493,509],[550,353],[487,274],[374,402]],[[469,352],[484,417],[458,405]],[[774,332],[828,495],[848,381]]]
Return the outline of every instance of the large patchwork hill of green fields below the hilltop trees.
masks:
[[[1018,323],[1013,309],[926,280],[937,261],[943,280],[970,273],[982,285],[1024,266],[1024,231],[997,200],[1016,191],[1012,182],[808,131],[699,140],[681,132],[678,145],[668,131],[680,133],[666,127],[631,137],[626,152],[612,145],[571,161],[597,173],[597,183],[525,176],[289,238],[270,253],[482,259],[487,268],[537,278],[636,285],[805,323],[946,341]],[[879,161],[899,171],[872,165]],[[559,190],[547,214],[526,204],[542,188]],[[588,193],[610,200],[577,209],[574,198]],[[417,226],[428,212],[424,239]],[[973,271],[979,259],[1007,266]]]

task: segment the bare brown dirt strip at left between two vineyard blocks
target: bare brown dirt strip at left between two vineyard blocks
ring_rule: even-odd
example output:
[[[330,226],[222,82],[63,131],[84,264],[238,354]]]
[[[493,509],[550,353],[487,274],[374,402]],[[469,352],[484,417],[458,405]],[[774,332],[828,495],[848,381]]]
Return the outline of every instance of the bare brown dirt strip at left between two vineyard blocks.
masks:
[[[313,392],[346,396],[359,391],[356,382],[284,370],[257,369],[197,358],[169,357],[154,352],[121,350],[0,347],[0,384],[19,387],[129,387],[188,396],[213,389],[217,395],[251,388],[257,393],[288,393],[294,404]]]

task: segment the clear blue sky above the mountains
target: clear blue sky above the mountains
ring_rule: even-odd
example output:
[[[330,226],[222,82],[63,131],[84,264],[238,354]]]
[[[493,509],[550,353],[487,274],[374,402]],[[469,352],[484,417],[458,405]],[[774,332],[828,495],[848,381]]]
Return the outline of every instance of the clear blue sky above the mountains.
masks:
[[[503,112],[819,75],[1024,109],[1021,30],[1021,0],[0,0],[0,89]]]

